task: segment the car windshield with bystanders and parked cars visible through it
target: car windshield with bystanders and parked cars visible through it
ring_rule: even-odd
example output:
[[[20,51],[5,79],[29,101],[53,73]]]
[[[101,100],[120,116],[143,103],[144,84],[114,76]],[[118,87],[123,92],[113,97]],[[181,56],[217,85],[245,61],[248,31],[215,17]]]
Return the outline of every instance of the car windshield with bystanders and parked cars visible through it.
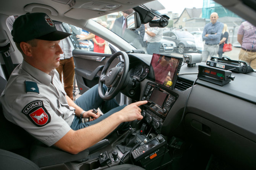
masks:
[[[147,23],[136,30],[125,29],[124,18],[133,12],[132,9],[94,20],[105,21],[108,29],[148,54],[156,52],[182,57],[184,53],[201,53],[204,56],[203,61],[212,56],[226,56],[234,60],[241,59],[256,68],[256,64],[253,66],[245,58],[246,52],[256,50],[255,27],[220,4],[212,0],[180,0],[175,3],[159,0],[144,5],[155,13],[169,16],[169,24],[164,28],[158,28],[150,27]],[[247,28],[252,29],[250,38],[245,38]],[[178,37],[170,32],[172,30],[178,30]],[[194,39],[191,40],[191,37]],[[230,44],[230,48],[226,47],[227,44]]]

